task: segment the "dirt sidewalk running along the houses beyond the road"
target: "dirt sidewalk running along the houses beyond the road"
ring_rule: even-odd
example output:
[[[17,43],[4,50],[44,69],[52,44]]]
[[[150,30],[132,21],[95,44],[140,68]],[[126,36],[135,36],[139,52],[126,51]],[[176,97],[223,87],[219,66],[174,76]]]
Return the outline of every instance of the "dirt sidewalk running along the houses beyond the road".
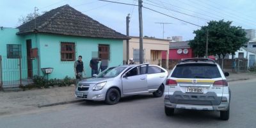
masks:
[[[230,73],[228,81],[255,79],[252,73]],[[44,106],[82,102],[75,98],[75,87],[54,87],[47,89],[26,90],[24,92],[0,92],[0,116],[19,113]]]

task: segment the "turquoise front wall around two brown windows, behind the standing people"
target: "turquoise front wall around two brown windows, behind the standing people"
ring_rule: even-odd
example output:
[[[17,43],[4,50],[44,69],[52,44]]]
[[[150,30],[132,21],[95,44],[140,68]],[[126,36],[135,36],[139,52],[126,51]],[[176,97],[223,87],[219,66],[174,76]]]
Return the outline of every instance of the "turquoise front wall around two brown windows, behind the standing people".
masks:
[[[49,74],[49,78],[62,79],[65,76],[74,77],[74,61],[61,61],[61,42],[76,43],[76,60],[79,55],[83,56],[86,77],[91,76],[90,60],[92,59],[92,52],[98,51],[99,44],[109,45],[109,67],[122,65],[123,63],[123,40],[46,34],[40,34],[39,37],[40,67],[54,68],[52,74]],[[43,75],[42,72],[40,74]]]

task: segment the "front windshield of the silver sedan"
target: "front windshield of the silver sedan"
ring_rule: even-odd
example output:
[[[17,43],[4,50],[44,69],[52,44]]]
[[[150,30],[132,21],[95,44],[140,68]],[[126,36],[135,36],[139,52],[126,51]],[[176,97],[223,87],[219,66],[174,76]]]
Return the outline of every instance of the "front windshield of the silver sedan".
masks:
[[[101,72],[97,77],[116,77],[127,67],[111,67]]]

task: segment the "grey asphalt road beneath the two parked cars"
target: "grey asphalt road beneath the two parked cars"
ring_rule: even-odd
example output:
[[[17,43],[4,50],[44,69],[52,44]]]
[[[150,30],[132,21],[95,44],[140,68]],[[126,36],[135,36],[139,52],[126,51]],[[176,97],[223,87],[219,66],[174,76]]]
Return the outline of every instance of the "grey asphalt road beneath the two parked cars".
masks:
[[[220,120],[220,112],[175,111],[164,114],[163,97],[126,97],[109,106],[104,102],[80,102],[40,108],[15,115],[0,116],[0,127],[256,127],[256,79],[230,84],[230,119]]]

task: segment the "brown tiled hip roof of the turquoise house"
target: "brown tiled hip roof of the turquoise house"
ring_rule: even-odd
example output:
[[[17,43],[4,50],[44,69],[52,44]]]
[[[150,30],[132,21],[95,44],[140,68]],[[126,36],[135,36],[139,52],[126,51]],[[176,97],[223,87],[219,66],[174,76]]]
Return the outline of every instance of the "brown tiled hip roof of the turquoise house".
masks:
[[[17,34],[28,34],[35,31],[35,20],[22,24]],[[128,37],[100,24],[91,17],[70,7],[68,4],[60,6],[36,17],[36,31],[38,33],[52,33],[58,35],[86,36],[93,38],[127,39]]]

